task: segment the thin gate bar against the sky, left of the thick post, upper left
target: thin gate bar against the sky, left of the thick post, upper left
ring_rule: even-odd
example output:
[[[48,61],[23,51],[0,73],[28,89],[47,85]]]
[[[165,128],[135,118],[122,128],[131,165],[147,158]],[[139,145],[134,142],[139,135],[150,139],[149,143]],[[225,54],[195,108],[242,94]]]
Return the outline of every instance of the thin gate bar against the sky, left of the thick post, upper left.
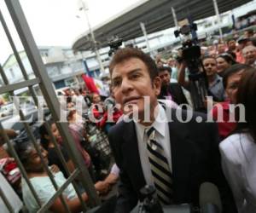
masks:
[[[16,58],[18,64],[19,64],[19,66],[20,66],[20,71],[22,72],[22,75],[23,75],[24,79],[25,79],[25,80],[28,80],[29,78],[28,78],[28,76],[27,76],[26,69],[25,69],[25,67],[23,66],[23,63],[22,63],[22,61],[21,61],[21,59],[20,59],[20,55],[19,55],[19,53],[18,53],[18,51],[17,51],[17,49],[16,49],[16,47],[15,47],[15,43],[14,43],[12,37],[11,37],[11,34],[10,34],[9,29],[8,29],[8,26],[6,25],[6,22],[5,22],[4,18],[3,18],[3,14],[2,14],[2,12],[1,12],[1,10],[0,10],[0,21],[1,21],[1,23],[2,23],[3,30],[5,31],[5,34],[6,34],[6,36],[8,37],[9,43],[10,43],[10,45],[11,45],[11,48],[12,48],[13,51],[14,51],[15,58]],[[31,93],[32,96],[33,96],[35,105],[38,106],[38,101],[37,101],[37,99],[36,99],[36,94],[35,94],[34,89],[32,88],[32,86],[30,86],[28,89],[29,89],[30,93]]]

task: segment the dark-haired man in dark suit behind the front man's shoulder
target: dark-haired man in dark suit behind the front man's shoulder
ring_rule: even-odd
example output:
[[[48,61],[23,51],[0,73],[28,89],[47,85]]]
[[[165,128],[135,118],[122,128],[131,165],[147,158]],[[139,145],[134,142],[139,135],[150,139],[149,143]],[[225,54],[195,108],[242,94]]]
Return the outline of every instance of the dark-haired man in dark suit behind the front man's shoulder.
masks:
[[[177,103],[177,105],[188,104],[183,94],[183,89],[178,83],[171,83],[172,68],[170,66],[160,66],[158,75],[161,78],[161,90],[159,99],[169,99]]]

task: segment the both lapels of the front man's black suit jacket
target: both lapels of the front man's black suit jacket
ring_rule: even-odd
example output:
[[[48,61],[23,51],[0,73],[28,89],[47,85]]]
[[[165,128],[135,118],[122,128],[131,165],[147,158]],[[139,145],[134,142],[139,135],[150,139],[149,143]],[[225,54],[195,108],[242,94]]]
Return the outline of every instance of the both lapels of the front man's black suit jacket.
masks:
[[[172,114],[174,113],[176,111],[172,110]],[[172,120],[174,122],[169,123],[169,132],[172,150],[173,191],[174,201],[180,201],[188,195],[193,146],[191,146],[187,125],[178,122],[177,118],[172,118]],[[131,180],[132,187],[139,192],[146,182],[139,157],[135,124],[133,122],[125,123],[124,130],[124,142],[121,147],[123,166]]]

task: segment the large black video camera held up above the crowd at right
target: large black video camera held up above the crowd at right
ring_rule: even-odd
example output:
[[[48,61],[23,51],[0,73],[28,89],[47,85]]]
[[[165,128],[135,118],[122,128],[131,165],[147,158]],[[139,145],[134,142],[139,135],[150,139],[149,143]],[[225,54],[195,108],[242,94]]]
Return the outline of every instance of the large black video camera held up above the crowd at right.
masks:
[[[204,100],[207,96],[207,78],[201,64],[201,48],[196,37],[196,24],[188,20],[180,21],[181,28],[175,31],[175,37],[183,36],[182,54],[178,60],[184,60],[189,70],[190,93],[195,111],[205,111]]]

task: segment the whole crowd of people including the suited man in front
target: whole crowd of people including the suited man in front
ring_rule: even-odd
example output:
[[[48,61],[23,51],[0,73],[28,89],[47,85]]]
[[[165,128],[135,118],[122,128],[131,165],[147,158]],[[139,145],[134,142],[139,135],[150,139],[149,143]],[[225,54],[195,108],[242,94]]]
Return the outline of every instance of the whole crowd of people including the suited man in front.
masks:
[[[68,130],[96,191],[106,195],[119,181],[113,209],[105,212],[130,212],[143,200],[145,185],[154,186],[162,206],[199,206],[199,189],[206,181],[218,187],[223,212],[256,212],[254,35],[246,32],[201,49],[199,70],[205,73],[207,85],[204,112],[193,110],[191,79],[182,49],[180,57],[171,55],[168,60],[160,55],[152,59],[140,49],[118,49],[109,65],[109,97],[90,93],[86,85],[59,94],[61,108],[67,111]],[[244,107],[244,121],[239,119],[241,107],[232,105]],[[178,115],[186,120],[187,112],[192,113],[191,118],[181,122]],[[209,116],[215,122],[210,122]],[[51,134],[46,124],[40,125],[38,147],[43,159],[31,141],[15,145],[41,205],[55,193],[42,160],[59,187],[75,170],[56,121],[47,118],[45,122]],[[104,151],[93,146],[100,135],[111,147],[109,160],[103,158],[108,157]],[[75,181],[82,199],[88,202],[80,180]],[[39,205],[23,178],[20,186],[27,210],[37,212]],[[62,195],[71,212],[80,212],[82,205],[75,191],[69,185]],[[55,199],[49,210],[65,212],[61,199]]]

